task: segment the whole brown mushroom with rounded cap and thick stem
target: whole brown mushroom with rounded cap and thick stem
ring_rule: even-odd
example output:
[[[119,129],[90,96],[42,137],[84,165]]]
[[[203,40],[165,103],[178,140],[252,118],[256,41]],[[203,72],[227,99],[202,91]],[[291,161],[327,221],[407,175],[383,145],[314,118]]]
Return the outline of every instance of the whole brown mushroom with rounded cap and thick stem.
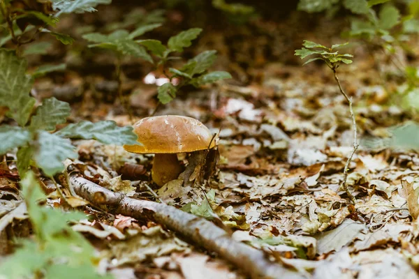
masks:
[[[134,132],[142,145],[124,145],[132,153],[154,153],[152,179],[159,186],[177,179],[182,166],[177,153],[213,148],[214,136],[200,121],[186,116],[164,115],[141,119]]]

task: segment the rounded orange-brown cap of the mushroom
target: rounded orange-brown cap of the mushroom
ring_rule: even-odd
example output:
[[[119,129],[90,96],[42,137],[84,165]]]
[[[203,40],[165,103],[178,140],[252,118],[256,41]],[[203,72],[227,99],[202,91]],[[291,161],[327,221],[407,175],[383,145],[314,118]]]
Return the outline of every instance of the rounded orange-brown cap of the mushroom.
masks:
[[[142,145],[124,145],[133,153],[183,153],[207,149],[212,133],[200,121],[186,116],[163,115],[141,119],[134,133]],[[210,148],[216,145],[212,140]]]

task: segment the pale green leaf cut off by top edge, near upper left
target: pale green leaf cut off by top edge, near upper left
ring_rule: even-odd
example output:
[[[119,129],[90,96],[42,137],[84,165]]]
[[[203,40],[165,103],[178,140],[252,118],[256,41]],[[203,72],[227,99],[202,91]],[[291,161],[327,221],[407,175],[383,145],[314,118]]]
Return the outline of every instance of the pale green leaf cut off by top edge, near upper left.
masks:
[[[85,13],[95,12],[99,4],[108,5],[112,0],[54,0],[52,8],[59,10],[57,17],[63,13]]]

